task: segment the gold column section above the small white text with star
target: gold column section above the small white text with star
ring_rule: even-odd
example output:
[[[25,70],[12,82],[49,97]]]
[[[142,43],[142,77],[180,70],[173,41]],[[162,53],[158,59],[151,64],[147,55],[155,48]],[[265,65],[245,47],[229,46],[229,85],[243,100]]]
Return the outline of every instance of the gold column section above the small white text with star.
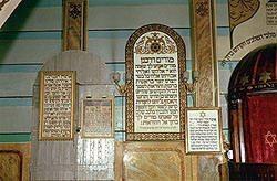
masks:
[[[196,106],[201,107],[218,105],[213,10],[213,0],[193,0],[193,68],[199,72],[196,87]]]

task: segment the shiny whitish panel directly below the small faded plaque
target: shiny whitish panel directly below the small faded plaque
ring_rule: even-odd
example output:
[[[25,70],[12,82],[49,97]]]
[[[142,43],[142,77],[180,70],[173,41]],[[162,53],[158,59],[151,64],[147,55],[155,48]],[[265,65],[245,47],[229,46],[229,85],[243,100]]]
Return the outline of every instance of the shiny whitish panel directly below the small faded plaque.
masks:
[[[114,139],[78,139],[78,180],[114,180]]]

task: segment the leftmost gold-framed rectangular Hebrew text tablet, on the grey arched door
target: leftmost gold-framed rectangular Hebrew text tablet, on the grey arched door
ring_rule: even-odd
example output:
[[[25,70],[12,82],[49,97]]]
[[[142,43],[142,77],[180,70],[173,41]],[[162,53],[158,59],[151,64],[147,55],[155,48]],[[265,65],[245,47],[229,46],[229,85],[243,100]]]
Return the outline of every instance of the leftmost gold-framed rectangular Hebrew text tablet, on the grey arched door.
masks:
[[[72,140],[75,72],[40,72],[39,140]]]

